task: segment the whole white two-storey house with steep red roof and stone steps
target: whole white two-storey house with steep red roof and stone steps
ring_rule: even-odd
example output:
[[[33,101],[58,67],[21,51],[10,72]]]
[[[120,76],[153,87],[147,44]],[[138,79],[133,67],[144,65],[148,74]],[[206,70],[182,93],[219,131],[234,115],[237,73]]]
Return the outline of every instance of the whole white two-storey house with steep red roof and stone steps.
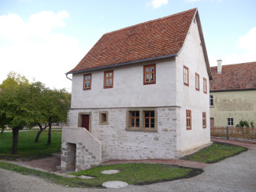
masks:
[[[169,159],[210,144],[212,74],[197,9],[106,33],[69,74],[69,126],[85,127],[102,151],[94,156],[70,128],[63,154],[75,143],[98,161]]]

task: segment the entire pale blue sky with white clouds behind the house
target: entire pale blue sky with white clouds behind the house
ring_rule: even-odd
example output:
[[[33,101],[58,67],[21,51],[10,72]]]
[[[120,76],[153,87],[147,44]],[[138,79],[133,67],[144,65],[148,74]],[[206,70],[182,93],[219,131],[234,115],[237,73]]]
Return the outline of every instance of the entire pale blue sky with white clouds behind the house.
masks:
[[[13,71],[71,91],[65,72],[104,33],[195,7],[211,66],[256,61],[255,0],[0,0],[0,84]]]

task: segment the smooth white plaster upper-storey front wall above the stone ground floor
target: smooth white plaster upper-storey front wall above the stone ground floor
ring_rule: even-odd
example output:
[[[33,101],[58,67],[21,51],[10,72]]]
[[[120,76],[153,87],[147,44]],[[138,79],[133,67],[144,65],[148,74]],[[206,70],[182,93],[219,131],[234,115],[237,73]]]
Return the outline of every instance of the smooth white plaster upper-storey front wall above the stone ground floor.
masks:
[[[156,63],[156,84],[143,85],[143,65]],[[104,71],[113,70],[113,88],[103,88]],[[71,108],[114,108],[174,105],[175,59],[107,68],[91,73],[91,90],[83,90],[83,74],[72,76]]]

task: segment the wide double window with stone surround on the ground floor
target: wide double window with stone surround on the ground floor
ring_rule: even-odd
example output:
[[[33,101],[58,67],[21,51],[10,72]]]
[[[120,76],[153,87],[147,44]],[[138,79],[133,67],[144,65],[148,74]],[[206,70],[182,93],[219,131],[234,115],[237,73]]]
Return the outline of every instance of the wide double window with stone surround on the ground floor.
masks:
[[[158,112],[155,108],[135,108],[126,112],[126,131],[158,131]]]

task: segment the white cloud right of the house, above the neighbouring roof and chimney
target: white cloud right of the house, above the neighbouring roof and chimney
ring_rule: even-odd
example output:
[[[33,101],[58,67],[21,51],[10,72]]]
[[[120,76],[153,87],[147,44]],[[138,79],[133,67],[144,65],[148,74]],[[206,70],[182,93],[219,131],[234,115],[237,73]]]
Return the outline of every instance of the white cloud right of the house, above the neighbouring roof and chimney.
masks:
[[[250,29],[246,35],[237,40],[235,51],[222,59],[223,65],[256,61],[256,27]],[[210,64],[217,65],[217,58],[209,55]]]

